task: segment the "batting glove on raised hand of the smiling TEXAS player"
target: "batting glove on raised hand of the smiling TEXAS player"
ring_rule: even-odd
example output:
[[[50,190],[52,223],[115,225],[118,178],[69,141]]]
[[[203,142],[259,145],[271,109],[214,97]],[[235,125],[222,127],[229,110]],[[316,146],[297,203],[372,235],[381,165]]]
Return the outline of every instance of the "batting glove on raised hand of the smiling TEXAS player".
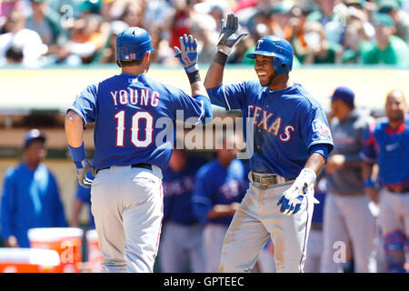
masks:
[[[224,53],[224,55],[230,55],[233,45],[237,43],[240,38],[246,33],[237,34],[238,29],[238,17],[233,13],[227,15],[227,20],[222,19],[220,27],[219,40],[217,42],[217,50]]]

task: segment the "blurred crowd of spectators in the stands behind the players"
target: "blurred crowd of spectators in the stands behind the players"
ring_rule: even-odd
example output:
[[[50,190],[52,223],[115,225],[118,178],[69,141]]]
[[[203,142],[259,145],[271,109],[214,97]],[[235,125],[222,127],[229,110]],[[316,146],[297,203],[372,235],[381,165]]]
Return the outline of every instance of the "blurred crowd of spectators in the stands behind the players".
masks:
[[[230,64],[252,64],[244,55],[255,41],[279,35],[294,46],[297,65],[409,66],[406,0],[1,0],[0,65],[115,64],[115,37],[127,26],[152,35],[154,64],[176,66],[173,47],[185,33],[209,64],[232,11],[249,36]]]

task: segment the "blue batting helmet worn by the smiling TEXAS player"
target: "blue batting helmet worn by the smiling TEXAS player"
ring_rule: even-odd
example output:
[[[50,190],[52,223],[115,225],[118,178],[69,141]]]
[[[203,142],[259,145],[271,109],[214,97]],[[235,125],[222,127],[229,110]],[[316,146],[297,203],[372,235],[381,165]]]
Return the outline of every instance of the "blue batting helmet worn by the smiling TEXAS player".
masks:
[[[293,47],[281,37],[268,35],[260,38],[255,51],[245,56],[255,58],[255,55],[274,56],[273,68],[277,74],[286,74],[293,68]]]

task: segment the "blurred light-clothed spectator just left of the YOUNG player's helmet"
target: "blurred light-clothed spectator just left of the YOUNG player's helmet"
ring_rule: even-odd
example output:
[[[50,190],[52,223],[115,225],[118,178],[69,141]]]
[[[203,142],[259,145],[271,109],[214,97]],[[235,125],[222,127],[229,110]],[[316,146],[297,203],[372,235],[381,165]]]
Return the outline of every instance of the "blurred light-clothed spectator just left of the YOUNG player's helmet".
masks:
[[[105,45],[110,27],[100,15],[85,14],[75,20],[71,39],[57,52],[57,63],[90,64]]]

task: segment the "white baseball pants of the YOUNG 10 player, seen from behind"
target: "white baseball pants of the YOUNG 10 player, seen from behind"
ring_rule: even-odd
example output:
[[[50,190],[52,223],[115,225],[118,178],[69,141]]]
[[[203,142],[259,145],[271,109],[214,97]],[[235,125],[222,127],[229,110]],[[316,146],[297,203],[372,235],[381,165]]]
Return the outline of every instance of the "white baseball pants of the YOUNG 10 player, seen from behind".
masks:
[[[131,166],[100,170],[91,210],[103,272],[152,273],[163,217],[162,171]]]

